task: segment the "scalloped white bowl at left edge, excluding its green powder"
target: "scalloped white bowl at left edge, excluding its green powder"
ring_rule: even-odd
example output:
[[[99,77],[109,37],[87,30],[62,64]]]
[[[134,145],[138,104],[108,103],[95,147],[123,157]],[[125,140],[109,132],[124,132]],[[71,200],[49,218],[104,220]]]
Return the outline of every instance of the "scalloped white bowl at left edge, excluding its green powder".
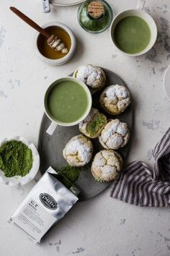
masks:
[[[35,148],[35,145],[24,139],[23,137],[12,137],[12,138],[5,138],[4,140],[0,141],[0,146],[3,145],[5,142],[9,140],[18,140],[22,141],[25,145],[27,145],[30,150],[32,150],[32,156],[33,156],[33,163],[32,163],[32,168],[30,169],[30,172],[25,175],[25,176],[13,176],[13,177],[6,177],[4,176],[4,172],[0,170],[0,182],[4,183],[9,186],[18,186],[18,185],[24,185],[27,184],[28,182],[31,182],[32,179],[35,178],[37,171],[39,170],[40,167],[40,155],[37,152],[37,149]]]

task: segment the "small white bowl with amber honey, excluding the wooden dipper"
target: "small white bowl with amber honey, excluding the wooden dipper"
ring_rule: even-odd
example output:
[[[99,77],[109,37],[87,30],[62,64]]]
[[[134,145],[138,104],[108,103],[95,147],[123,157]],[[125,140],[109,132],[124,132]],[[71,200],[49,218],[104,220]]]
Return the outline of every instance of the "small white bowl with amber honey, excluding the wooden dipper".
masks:
[[[37,33],[35,38],[36,54],[47,64],[52,66],[60,66],[69,61],[76,50],[76,38],[69,27],[60,22],[50,22],[42,25],[50,35],[57,35],[57,37],[64,43],[68,49],[67,54],[61,51],[55,51],[48,45],[47,39]]]

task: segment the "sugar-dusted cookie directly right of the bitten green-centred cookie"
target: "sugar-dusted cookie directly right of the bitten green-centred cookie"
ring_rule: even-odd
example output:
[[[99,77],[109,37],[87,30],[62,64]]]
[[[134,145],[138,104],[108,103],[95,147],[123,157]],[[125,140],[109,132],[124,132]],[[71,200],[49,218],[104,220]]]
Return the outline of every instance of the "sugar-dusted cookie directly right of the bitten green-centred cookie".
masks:
[[[130,138],[130,131],[126,123],[119,119],[109,121],[99,136],[99,142],[103,148],[114,149],[124,147]]]

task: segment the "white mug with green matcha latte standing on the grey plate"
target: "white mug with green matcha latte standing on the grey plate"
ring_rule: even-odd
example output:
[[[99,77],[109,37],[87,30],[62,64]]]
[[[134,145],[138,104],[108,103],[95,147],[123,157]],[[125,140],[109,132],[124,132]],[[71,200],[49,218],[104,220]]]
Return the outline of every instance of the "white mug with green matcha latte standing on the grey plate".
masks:
[[[56,80],[45,93],[45,113],[52,121],[46,132],[53,135],[57,125],[79,124],[89,114],[91,103],[91,93],[84,82],[73,77]]]

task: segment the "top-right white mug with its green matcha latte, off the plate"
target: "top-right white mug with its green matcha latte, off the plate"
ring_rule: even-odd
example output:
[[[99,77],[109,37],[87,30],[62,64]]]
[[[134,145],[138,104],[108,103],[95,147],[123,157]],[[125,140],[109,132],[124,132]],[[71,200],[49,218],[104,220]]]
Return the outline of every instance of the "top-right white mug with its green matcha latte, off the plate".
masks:
[[[115,47],[123,54],[145,54],[156,42],[156,23],[143,11],[144,4],[145,1],[138,0],[137,9],[120,12],[112,21],[110,36]]]

